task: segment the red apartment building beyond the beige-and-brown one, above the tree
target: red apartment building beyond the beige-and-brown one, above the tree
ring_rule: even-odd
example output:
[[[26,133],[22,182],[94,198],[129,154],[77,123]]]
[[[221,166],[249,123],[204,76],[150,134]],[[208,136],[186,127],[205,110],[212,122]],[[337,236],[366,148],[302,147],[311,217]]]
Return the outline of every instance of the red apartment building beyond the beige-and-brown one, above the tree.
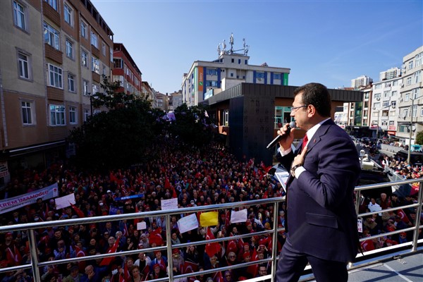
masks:
[[[122,43],[114,43],[112,73],[113,81],[121,82],[119,92],[135,94],[140,97],[142,73]]]

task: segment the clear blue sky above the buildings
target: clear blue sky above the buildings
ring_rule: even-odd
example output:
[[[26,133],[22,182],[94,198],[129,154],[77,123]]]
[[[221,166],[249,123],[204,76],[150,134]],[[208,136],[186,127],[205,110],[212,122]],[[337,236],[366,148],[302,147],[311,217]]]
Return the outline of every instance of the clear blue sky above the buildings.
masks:
[[[92,0],[154,90],[180,90],[194,61],[214,61],[233,33],[250,65],[290,68],[288,85],[351,80],[401,67],[423,46],[421,0]],[[228,48],[229,47],[229,48]]]

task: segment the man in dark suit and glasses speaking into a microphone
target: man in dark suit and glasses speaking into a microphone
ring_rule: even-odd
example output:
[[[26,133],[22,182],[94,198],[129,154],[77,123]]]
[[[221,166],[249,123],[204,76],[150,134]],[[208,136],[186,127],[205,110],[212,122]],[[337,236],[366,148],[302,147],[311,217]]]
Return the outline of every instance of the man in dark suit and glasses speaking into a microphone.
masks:
[[[287,169],[286,224],[276,281],[298,281],[307,262],[317,281],[348,281],[348,262],[358,250],[353,192],[360,163],[353,140],[331,120],[331,97],[324,85],[309,83],[294,91],[290,116],[306,131],[291,149],[295,129],[279,135],[276,158]],[[308,141],[307,141],[308,140]]]

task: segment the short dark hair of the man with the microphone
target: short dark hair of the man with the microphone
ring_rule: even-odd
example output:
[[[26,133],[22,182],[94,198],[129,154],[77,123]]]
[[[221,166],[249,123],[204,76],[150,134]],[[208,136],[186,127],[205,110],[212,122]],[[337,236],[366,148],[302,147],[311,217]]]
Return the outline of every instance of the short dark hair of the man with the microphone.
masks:
[[[331,116],[331,94],[326,86],[320,83],[307,83],[294,90],[294,97],[300,93],[304,105],[313,105],[320,116]]]

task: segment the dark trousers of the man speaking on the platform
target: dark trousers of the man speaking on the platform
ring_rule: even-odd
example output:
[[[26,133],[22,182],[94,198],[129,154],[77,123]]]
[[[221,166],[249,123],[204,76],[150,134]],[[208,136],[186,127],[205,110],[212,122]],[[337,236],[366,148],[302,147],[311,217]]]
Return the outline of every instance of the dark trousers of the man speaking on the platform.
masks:
[[[312,266],[314,278],[317,282],[346,282],[348,281],[347,264],[326,259],[319,259],[298,252],[287,239],[283,244],[276,269],[276,282],[296,282],[300,279],[302,271],[307,266]]]

